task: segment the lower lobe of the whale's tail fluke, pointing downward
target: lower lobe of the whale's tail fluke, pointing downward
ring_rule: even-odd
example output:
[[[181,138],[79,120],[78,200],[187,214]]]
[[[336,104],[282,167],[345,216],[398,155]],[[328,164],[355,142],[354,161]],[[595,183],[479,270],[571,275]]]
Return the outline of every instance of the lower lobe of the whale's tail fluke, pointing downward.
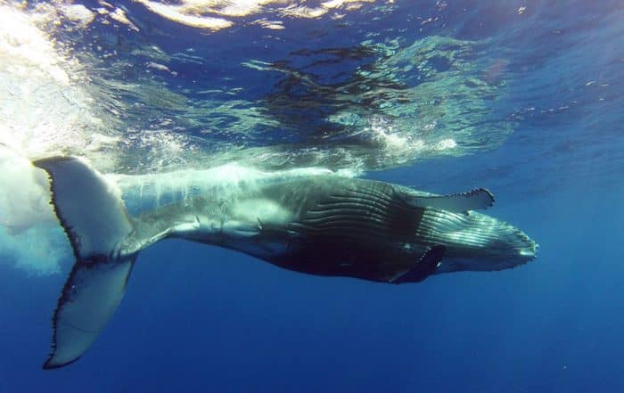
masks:
[[[78,262],[71,271],[53,316],[52,352],[44,369],[78,360],[119,306],[135,256]]]

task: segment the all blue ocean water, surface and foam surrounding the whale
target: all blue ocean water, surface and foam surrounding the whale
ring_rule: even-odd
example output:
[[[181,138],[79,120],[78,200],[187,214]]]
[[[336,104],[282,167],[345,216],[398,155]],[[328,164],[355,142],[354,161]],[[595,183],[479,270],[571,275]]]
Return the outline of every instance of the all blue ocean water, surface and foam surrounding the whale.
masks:
[[[623,108],[621,1],[0,1],[0,392],[624,391]],[[487,187],[538,258],[393,286],[159,242],[43,371],[58,154],[133,213],[221,165]]]

